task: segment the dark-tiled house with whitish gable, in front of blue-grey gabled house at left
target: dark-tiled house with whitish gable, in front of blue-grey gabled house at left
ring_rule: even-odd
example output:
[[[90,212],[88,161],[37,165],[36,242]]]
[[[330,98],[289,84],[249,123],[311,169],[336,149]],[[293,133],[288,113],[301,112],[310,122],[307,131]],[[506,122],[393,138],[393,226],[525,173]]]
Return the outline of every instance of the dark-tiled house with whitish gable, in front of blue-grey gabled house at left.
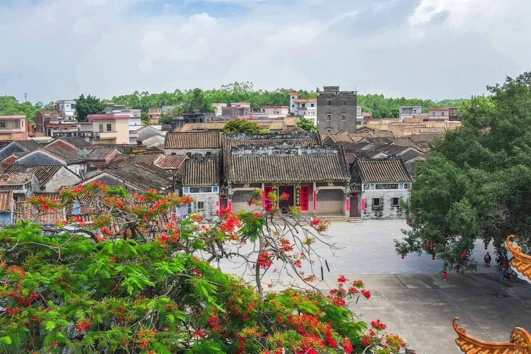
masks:
[[[64,165],[11,165],[4,171],[7,174],[33,172],[39,181],[39,192],[55,193],[62,187],[73,186],[81,181]]]

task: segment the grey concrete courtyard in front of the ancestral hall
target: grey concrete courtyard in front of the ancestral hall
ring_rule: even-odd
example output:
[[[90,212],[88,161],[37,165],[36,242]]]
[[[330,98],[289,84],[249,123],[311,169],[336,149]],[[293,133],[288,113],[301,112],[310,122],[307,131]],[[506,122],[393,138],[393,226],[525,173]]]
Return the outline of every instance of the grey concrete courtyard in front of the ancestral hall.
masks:
[[[473,254],[477,273],[449,272],[443,281],[442,262],[425,254],[404,260],[396,254],[393,239],[404,237],[400,230],[406,227],[405,221],[333,222],[327,234],[339,249],[318,247],[330,266],[330,272],[324,268],[319,287],[335,286],[339,274],[363,280],[372,297],[353,305],[354,312],[366,322],[379,318],[387,323],[388,331],[400,334],[417,353],[458,352],[451,325],[455,316],[469,333],[489,341],[508,341],[513,327],[531,327],[531,284],[500,281],[494,266],[483,265],[483,244],[476,245]],[[493,254],[492,249],[487,251]],[[241,263],[224,261],[221,267],[245,275]],[[280,289],[277,278],[270,272],[263,282]],[[290,280],[280,277],[282,283]]]

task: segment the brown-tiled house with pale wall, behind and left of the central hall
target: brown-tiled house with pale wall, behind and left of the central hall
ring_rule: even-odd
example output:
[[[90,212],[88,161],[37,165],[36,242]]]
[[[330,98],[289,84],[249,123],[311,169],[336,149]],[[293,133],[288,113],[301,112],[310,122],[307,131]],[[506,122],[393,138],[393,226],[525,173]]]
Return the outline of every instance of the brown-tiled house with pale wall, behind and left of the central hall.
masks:
[[[201,154],[219,155],[221,135],[216,132],[167,133],[164,142],[165,155]]]

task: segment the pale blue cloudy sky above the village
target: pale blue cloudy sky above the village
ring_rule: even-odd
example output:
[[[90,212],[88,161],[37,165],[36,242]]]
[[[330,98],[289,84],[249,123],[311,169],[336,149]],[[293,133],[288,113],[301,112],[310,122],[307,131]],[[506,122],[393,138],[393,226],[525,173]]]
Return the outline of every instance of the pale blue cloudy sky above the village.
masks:
[[[315,90],[467,98],[531,70],[530,0],[0,0],[0,95]]]

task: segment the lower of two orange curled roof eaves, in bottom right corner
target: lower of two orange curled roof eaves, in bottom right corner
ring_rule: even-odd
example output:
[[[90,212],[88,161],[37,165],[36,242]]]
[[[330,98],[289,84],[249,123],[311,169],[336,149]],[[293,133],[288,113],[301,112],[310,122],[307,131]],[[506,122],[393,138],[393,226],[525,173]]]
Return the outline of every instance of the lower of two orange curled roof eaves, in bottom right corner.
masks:
[[[457,320],[458,317],[452,320],[453,330],[458,335],[456,346],[466,354],[531,354],[531,334],[521,327],[512,330],[509,343],[487,342],[466,333],[463,327],[457,325]]]

